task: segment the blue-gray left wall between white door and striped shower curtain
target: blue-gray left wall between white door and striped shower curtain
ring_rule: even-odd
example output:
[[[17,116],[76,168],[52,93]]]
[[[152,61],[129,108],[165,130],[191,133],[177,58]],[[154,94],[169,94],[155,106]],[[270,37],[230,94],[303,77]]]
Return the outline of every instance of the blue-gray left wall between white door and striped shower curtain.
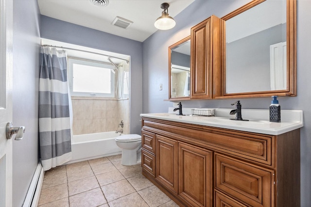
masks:
[[[38,164],[39,8],[36,0],[13,1],[13,125],[25,126],[13,141],[13,206],[22,206]]]

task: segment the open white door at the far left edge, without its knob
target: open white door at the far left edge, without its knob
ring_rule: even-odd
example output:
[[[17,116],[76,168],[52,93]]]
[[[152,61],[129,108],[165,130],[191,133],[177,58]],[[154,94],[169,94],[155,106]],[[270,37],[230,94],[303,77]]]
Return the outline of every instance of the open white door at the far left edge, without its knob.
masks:
[[[12,140],[5,128],[12,122],[13,0],[0,0],[0,207],[12,207]]]

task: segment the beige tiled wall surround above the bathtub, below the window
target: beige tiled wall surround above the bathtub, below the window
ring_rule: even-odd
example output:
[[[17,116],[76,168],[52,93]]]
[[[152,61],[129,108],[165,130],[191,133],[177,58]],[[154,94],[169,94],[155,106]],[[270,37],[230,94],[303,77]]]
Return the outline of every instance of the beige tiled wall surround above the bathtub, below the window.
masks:
[[[128,134],[128,99],[108,100],[72,96],[71,100],[74,135],[115,131],[121,120],[124,122],[123,133]]]

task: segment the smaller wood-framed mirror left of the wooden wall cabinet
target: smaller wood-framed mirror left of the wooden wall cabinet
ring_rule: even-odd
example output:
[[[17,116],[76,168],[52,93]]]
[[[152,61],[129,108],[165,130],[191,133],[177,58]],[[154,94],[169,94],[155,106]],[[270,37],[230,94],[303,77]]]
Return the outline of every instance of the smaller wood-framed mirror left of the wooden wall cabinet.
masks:
[[[190,36],[169,47],[169,99],[190,99]]]

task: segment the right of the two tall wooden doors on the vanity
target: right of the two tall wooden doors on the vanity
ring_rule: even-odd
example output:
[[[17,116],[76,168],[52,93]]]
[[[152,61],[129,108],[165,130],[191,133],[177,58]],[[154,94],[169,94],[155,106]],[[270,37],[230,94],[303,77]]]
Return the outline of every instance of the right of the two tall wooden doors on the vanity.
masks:
[[[178,143],[178,195],[193,207],[212,207],[212,152]]]

